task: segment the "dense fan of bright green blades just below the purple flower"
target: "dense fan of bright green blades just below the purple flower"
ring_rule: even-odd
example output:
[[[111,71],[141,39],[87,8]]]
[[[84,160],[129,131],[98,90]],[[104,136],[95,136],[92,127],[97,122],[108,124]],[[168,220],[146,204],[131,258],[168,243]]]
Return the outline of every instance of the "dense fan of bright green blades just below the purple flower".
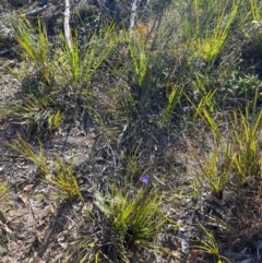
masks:
[[[96,193],[95,204],[126,242],[148,240],[162,231],[167,220],[159,211],[162,196],[145,189],[126,193],[116,188],[106,196]]]

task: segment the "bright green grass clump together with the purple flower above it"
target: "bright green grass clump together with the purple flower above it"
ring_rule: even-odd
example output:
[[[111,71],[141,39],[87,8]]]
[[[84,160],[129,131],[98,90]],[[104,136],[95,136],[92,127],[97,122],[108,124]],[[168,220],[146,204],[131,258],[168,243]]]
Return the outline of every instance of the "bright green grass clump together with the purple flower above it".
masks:
[[[127,259],[130,246],[153,249],[153,238],[159,232],[167,231],[164,228],[166,223],[171,224],[172,229],[178,226],[162,213],[163,195],[146,187],[150,183],[150,176],[143,176],[140,181],[143,187],[139,189],[127,188],[127,186],[123,188],[112,187],[109,194],[95,193],[95,204],[118,235],[116,241],[121,243],[120,248],[122,248],[122,251],[119,252],[123,258],[127,255]],[[164,250],[165,248],[159,249],[159,251]],[[176,252],[171,251],[168,254],[178,256]]]

